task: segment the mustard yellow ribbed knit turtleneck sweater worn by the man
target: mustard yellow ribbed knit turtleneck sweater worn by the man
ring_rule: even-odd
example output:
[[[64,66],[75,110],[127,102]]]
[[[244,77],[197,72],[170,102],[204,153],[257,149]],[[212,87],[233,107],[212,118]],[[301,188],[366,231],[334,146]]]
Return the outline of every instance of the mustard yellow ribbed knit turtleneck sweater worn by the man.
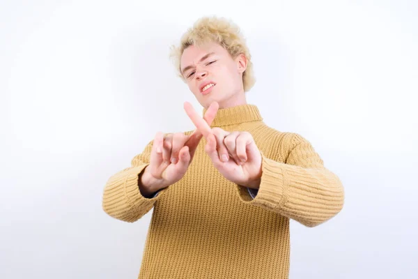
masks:
[[[204,138],[183,179],[153,198],[138,187],[152,141],[107,181],[109,216],[135,222],[154,207],[139,278],[288,278],[289,219],[314,227],[341,211],[340,179],[302,136],[266,126],[255,105],[219,110],[215,126],[254,137],[263,156],[254,199],[213,167]]]

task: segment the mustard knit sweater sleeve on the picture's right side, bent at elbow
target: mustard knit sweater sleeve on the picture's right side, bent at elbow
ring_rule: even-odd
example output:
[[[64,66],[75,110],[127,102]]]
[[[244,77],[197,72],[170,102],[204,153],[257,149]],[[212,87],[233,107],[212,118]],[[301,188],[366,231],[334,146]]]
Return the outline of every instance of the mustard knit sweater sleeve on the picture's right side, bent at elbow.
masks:
[[[294,134],[286,163],[262,158],[256,197],[253,199],[246,187],[237,185],[242,202],[277,212],[307,227],[324,223],[343,208],[341,180],[324,167],[323,160],[302,136]]]

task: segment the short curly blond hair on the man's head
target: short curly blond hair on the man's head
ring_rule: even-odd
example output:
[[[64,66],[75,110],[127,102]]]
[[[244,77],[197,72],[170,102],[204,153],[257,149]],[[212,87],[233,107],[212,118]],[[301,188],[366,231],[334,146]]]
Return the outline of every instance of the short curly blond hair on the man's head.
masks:
[[[245,38],[240,32],[240,27],[227,20],[225,17],[201,17],[197,20],[193,27],[180,38],[180,45],[171,46],[170,58],[176,67],[177,75],[186,82],[181,74],[180,59],[183,51],[190,45],[202,45],[204,43],[214,42],[222,45],[229,52],[231,57],[235,59],[239,54],[244,54],[247,58],[247,68],[242,73],[242,84],[244,91],[249,91],[256,82],[254,77],[253,64],[251,62],[251,54],[245,42]]]

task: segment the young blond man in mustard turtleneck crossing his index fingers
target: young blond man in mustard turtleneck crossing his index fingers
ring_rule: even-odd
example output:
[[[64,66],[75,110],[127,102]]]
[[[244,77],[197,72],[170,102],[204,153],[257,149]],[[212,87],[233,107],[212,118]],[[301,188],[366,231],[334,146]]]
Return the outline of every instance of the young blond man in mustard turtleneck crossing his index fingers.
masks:
[[[233,23],[198,20],[173,57],[203,118],[185,103],[196,130],[157,133],[109,178],[104,211],[134,222],[154,207],[139,278],[288,278],[289,220],[336,216],[340,179],[304,137],[247,104],[251,56]]]

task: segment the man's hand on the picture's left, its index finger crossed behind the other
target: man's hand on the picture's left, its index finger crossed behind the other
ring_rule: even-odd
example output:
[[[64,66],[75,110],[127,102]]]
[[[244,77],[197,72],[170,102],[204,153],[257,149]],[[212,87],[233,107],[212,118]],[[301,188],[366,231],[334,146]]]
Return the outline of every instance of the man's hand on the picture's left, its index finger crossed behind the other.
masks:
[[[213,102],[203,116],[209,126],[218,109],[218,103]],[[202,137],[199,130],[194,130],[192,135],[174,133],[165,137],[163,133],[157,133],[151,150],[150,164],[139,177],[142,195],[150,195],[182,179],[192,163],[194,151]]]

